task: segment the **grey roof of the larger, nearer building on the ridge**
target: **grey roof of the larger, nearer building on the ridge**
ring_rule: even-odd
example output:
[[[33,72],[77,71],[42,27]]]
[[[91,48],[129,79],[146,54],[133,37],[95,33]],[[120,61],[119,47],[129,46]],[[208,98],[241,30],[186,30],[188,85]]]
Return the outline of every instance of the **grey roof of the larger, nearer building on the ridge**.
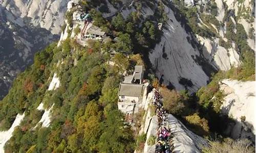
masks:
[[[141,97],[143,89],[142,84],[120,83],[118,95]]]

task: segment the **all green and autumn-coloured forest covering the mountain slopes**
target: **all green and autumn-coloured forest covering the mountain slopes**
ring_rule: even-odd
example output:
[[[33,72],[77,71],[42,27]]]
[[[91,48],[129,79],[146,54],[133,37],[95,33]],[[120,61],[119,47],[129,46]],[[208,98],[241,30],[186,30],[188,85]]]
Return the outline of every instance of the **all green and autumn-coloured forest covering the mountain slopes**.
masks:
[[[9,94],[0,101],[0,130],[8,130],[16,115],[25,113],[13,137],[6,143],[5,151],[134,152],[144,137],[138,136],[131,125],[124,122],[124,115],[117,109],[117,93],[122,73],[131,73],[136,64],[144,65],[147,70],[145,78],[161,89],[163,105],[168,113],[178,117],[200,136],[222,134],[225,126],[220,129],[218,125],[232,120],[219,115],[224,95],[218,83],[225,78],[255,80],[255,55],[244,42],[247,36],[243,27],[238,25],[236,36],[230,31],[229,41],[223,43],[227,47],[231,41],[237,43],[243,61],[241,66],[212,74],[206,87],[189,94],[185,90],[169,90],[154,76],[154,71],[149,70],[148,50],[161,36],[157,23],[167,20],[163,3],[159,1],[153,16],[143,18],[140,14],[143,3],[150,5],[153,2],[136,2],[136,11],[126,19],[120,13],[111,19],[103,18],[101,12],[105,8],[100,7],[101,12],[94,9],[99,3],[103,2],[80,1],[83,10],[92,15],[94,24],[108,33],[110,39],[104,43],[90,40],[89,45],[83,47],[70,37],[72,31],[69,31],[69,38],[60,46],[52,43],[35,55],[34,64],[18,75]],[[120,1],[112,0],[110,3],[118,5]],[[195,27],[195,8],[184,8],[179,6],[179,2],[175,3],[193,33],[216,36],[210,30]],[[214,15],[216,10],[212,5],[209,11]],[[66,14],[68,24],[63,25],[63,30],[72,25],[73,11]],[[79,33],[77,29],[73,31]],[[117,40],[114,41],[114,38]],[[115,66],[107,63],[113,54],[111,50],[116,52],[112,59]],[[60,78],[60,87],[49,91],[47,89],[54,72]],[[42,102],[44,108],[53,106],[49,127],[37,125],[44,112],[36,108]],[[222,137],[220,139],[223,144],[230,142]],[[215,145],[220,147],[220,143]],[[206,148],[205,152],[211,150]]]

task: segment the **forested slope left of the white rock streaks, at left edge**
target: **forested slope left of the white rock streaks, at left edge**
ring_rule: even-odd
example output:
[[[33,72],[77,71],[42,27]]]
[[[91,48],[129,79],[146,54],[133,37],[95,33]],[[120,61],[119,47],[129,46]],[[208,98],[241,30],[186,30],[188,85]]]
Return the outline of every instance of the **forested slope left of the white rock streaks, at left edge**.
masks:
[[[53,52],[57,52],[56,43],[36,53],[34,64],[18,75],[9,94],[0,102],[0,129],[9,129],[17,113],[33,110],[42,100],[47,89],[46,82],[52,69]]]

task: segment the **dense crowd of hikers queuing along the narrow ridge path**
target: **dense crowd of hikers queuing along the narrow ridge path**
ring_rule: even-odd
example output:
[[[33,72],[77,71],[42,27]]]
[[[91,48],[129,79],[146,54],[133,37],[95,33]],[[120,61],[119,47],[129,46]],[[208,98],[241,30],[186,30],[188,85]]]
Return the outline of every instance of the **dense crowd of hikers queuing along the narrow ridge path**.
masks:
[[[163,109],[163,97],[159,89],[154,89],[153,105],[156,107],[156,114],[158,120],[156,153],[170,153],[170,129],[167,128],[166,111]]]

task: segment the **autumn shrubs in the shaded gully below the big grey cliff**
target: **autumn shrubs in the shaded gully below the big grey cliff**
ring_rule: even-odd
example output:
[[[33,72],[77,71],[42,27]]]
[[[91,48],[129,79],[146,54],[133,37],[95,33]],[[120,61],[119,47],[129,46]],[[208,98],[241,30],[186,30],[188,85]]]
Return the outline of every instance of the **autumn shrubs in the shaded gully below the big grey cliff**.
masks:
[[[195,95],[188,95],[185,91],[169,91],[161,88],[164,98],[164,108],[181,119],[191,131],[200,136],[214,136],[215,133],[224,135],[231,118],[220,115],[220,107],[224,95],[219,87],[223,79],[237,79],[241,81],[255,80],[255,59],[252,52],[246,52],[243,63],[224,72],[214,74],[210,83],[201,87]],[[225,122],[226,124],[223,124]],[[222,124],[222,126],[219,126]]]

